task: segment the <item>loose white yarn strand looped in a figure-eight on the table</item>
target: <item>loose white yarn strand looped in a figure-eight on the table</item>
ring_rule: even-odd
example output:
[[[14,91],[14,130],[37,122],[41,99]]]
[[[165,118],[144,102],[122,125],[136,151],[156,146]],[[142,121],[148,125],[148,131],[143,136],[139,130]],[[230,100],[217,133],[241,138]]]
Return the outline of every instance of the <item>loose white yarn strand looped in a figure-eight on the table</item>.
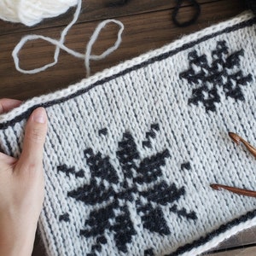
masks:
[[[65,29],[61,32],[61,38],[59,40],[53,39],[53,38],[49,38],[49,37],[44,37],[42,35],[27,35],[24,38],[20,39],[20,42],[15,46],[15,49],[13,50],[12,56],[13,59],[15,61],[15,68],[17,69],[17,71],[19,71],[20,73],[26,73],[26,74],[34,74],[34,73],[40,73],[43,72],[44,70],[46,70],[49,67],[53,67],[55,66],[55,64],[58,62],[59,60],[59,55],[60,55],[60,49],[65,50],[68,54],[73,55],[74,57],[77,57],[79,59],[84,59],[84,65],[85,65],[85,69],[86,69],[86,76],[89,77],[90,76],[90,60],[93,61],[99,61],[104,59],[106,56],[110,55],[115,49],[119,48],[119,45],[121,44],[122,41],[122,32],[124,31],[124,25],[122,22],[120,22],[119,20],[103,20],[97,27],[95,32],[93,32],[90,41],[88,42],[87,46],[86,46],[86,51],[85,54],[79,53],[73,49],[69,49],[67,48],[67,46],[64,44],[65,42],[65,38],[67,36],[67,32],[70,30],[70,28],[76,23],[76,21],[79,19],[79,13],[81,10],[81,6],[82,6],[82,1],[79,0],[78,2],[78,6],[77,9],[73,15],[73,20],[65,27]],[[91,55],[91,49],[93,47],[93,44],[95,44],[97,38],[99,37],[100,32],[102,31],[102,29],[108,25],[109,23],[115,23],[117,25],[119,25],[119,32],[118,32],[118,37],[117,40],[115,42],[115,44],[113,46],[111,46],[110,48],[108,48],[107,50],[105,50],[101,55]],[[23,46],[32,40],[37,40],[37,39],[42,39],[46,42],[49,42],[49,44],[54,44],[56,46],[55,49],[55,55],[54,55],[54,61],[44,65],[43,67],[38,67],[38,68],[34,68],[34,69],[23,69],[20,67],[20,58],[19,58],[19,53],[20,53],[20,49],[23,48]]]

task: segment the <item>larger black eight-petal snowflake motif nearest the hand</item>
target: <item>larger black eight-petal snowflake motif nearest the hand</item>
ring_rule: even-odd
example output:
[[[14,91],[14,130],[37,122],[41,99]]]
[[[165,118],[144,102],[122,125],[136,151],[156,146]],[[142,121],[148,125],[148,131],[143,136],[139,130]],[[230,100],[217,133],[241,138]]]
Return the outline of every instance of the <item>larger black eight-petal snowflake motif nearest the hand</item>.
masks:
[[[159,125],[151,125],[146,133],[146,140],[142,142],[143,146],[148,142],[146,146],[150,145],[151,148],[149,142],[154,139],[157,131]],[[90,212],[84,228],[80,230],[81,236],[96,240],[88,255],[101,252],[102,245],[108,243],[109,232],[113,233],[115,246],[119,251],[127,253],[127,244],[137,235],[128,206],[131,203],[136,206],[137,218],[141,219],[143,228],[161,236],[171,233],[164,211],[174,212],[180,218],[188,220],[197,219],[195,212],[187,212],[185,208],[178,209],[175,204],[185,195],[184,187],[177,188],[175,183],[167,183],[163,177],[162,168],[166,166],[166,159],[170,158],[168,149],[141,159],[134,137],[130,132],[125,132],[118,143],[116,156],[123,177],[119,177],[108,156],[102,156],[100,152],[95,154],[92,148],[86,148],[84,158],[90,168],[90,183],[67,192],[69,197],[84,202],[85,206],[97,206],[96,210]],[[57,170],[66,173],[67,177],[84,177],[84,171],[76,172],[74,167],[62,165]],[[67,217],[68,214],[63,214],[60,220]],[[152,249],[149,251],[151,255]],[[146,251],[147,254],[149,251]]]

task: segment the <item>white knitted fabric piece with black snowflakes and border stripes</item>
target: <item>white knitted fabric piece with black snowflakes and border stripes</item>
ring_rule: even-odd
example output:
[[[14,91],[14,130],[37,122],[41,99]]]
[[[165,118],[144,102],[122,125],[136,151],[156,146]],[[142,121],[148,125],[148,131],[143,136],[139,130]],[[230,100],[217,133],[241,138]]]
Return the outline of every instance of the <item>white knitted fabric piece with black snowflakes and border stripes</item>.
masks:
[[[25,102],[0,118],[18,157],[49,116],[39,227],[49,255],[197,255],[256,224],[256,19],[244,14]],[[56,78],[57,79],[57,78]]]

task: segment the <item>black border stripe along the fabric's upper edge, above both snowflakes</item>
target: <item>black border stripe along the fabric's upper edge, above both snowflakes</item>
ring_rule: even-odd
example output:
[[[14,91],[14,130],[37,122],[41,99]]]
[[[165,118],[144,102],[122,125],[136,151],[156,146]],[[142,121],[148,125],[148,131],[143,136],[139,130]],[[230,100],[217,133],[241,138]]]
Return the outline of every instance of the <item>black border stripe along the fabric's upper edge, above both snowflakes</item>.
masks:
[[[244,28],[246,26],[253,26],[253,24],[255,24],[255,23],[256,23],[256,18],[242,21],[241,23],[236,24],[234,26],[226,27],[226,28],[224,28],[223,30],[221,30],[219,32],[214,32],[212,34],[209,34],[207,36],[199,38],[199,39],[195,40],[194,42],[190,42],[188,44],[183,44],[183,46],[178,47],[177,49],[172,49],[169,52],[166,52],[164,54],[161,54],[161,55],[158,55],[158,56],[154,56],[151,59],[148,59],[147,61],[144,61],[144,62],[142,62],[140,64],[137,64],[137,65],[135,65],[133,67],[128,67],[125,70],[123,70],[123,71],[121,71],[121,72],[119,72],[117,74],[114,74],[113,76],[110,76],[108,78],[99,80],[99,81],[97,81],[94,84],[90,84],[88,87],[83,88],[81,90],[78,90],[77,92],[75,92],[75,93],[73,93],[73,94],[71,94],[69,96],[64,96],[64,97],[62,97],[60,99],[57,99],[57,100],[53,100],[53,101],[50,101],[50,102],[45,102],[45,103],[42,103],[42,104],[34,105],[32,108],[28,108],[24,113],[21,113],[20,115],[16,116],[14,119],[11,119],[9,121],[6,121],[6,122],[0,124],[0,129],[1,130],[2,129],[6,129],[10,125],[14,125],[16,122],[20,122],[22,119],[27,119],[35,108],[38,108],[38,107],[49,108],[49,107],[51,107],[51,106],[53,106],[55,104],[59,104],[61,102],[66,102],[66,101],[68,101],[68,100],[70,100],[70,99],[72,99],[72,98],[74,98],[76,96],[79,96],[81,94],[87,93],[89,90],[95,88],[98,85],[105,84],[105,83],[109,82],[110,80],[119,78],[120,76],[123,76],[126,73],[130,73],[132,70],[137,70],[139,68],[142,68],[142,67],[145,67],[145,66],[147,66],[149,64],[152,64],[152,63],[154,63],[156,61],[165,60],[166,58],[168,58],[168,57],[170,57],[172,55],[176,55],[180,51],[183,51],[185,49],[189,49],[189,48],[193,47],[195,44],[200,44],[200,43],[202,43],[204,41],[207,41],[210,38],[217,37],[218,35],[221,35],[223,33],[234,32],[234,31],[239,30],[241,28]]]

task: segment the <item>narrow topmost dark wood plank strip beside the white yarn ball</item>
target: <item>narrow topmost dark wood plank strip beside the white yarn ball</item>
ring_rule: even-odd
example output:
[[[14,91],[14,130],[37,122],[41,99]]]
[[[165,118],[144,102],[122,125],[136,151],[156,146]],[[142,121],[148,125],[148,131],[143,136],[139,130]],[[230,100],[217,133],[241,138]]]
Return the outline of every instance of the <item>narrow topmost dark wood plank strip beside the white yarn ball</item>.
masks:
[[[219,0],[199,0],[198,3],[218,2]],[[123,6],[110,6],[109,3],[118,3],[118,0],[83,0],[81,13],[77,23],[84,23],[88,21],[116,19],[124,16],[139,15],[144,13],[157,12],[160,10],[169,9],[172,11],[176,6],[174,0],[130,0]],[[191,6],[189,1],[183,1],[183,7]],[[7,23],[0,20],[0,35],[9,34],[13,32],[35,31],[42,28],[49,28],[53,26],[65,26],[73,17],[74,8],[67,11],[66,14],[60,15],[55,19],[44,20],[41,24],[32,27],[26,27],[22,24]]]

